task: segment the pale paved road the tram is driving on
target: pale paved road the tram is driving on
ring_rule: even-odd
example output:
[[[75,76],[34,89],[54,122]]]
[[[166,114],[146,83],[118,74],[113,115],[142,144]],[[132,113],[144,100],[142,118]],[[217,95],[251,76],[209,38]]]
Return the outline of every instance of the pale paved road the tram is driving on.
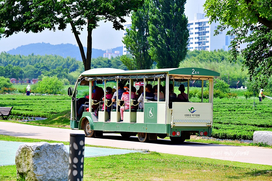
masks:
[[[0,135],[48,139],[55,141],[70,141],[70,133],[75,132],[83,133],[81,130],[49,128],[43,126],[0,122]],[[85,138],[85,144],[127,149],[141,149],[157,151],[160,153],[272,165],[272,149],[270,148],[228,146],[193,142],[172,144],[170,140],[163,139],[159,139],[155,143],[141,143],[138,141],[137,137],[131,137],[128,141],[126,141],[121,137],[121,135],[117,134],[104,134],[102,138]]]

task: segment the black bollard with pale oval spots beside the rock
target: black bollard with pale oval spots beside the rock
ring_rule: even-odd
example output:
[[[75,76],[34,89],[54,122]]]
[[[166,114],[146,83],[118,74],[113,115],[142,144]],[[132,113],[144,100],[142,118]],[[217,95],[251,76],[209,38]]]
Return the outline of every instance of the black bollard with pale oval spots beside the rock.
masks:
[[[84,134],[70,133],[68,181],[83,181]]]

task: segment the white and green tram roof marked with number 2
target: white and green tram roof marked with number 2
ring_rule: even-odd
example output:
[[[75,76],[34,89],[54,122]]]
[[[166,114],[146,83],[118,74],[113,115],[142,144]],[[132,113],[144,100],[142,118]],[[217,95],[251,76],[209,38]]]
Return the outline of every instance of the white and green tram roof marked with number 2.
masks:
[[[220,76],[220,73],[205,68],[161,68],[145,70],[121,70],[116,68],[93,68],[84,71],[81,76],[110,76],[110,75],[145,75],[162,74],[169,75],[196,75],[196,76]]]

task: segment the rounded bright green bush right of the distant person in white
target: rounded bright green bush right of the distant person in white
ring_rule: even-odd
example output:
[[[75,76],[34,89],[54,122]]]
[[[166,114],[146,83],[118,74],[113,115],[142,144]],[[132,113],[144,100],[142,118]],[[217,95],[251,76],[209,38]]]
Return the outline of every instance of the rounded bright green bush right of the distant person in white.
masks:
[[[63,94],[63,82],[60,81],[57,76],[47,77],[45,76],[42,81],[37,83],[37,87],[33,88],[33,91],[41,94]]]

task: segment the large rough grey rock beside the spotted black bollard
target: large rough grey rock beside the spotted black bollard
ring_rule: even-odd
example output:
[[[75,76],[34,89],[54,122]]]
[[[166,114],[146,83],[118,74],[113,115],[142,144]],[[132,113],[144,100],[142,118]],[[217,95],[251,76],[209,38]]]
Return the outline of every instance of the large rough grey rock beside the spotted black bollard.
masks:
[[[69,152],[63,143],[24,143],[15,156],[17,179],[67,181]]]

